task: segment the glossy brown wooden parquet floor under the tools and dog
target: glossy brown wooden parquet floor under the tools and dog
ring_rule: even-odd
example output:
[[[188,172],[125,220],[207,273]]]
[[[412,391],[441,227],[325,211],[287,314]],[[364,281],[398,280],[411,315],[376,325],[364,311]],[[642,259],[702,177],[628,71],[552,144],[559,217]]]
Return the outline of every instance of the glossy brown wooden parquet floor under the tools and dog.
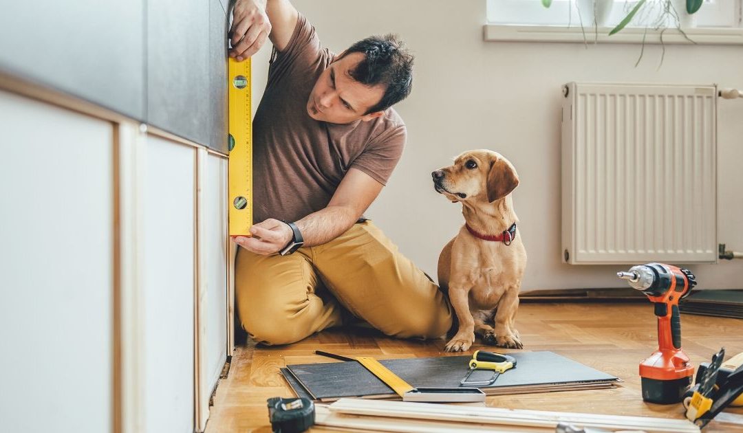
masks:
[[[681,405],[649,404],[640,397],[637,365],[658,347],[656,321],[649,302],[522,303],[516,322],[524,351],[554,351],[620,377],[624,382],[615,389],[487,397],[487,406],[683,417]],[[730,356],[743,351],[743,320],[683,314],[681,328],[682,347],[694,365],[709,361],[721,347]],[[233,355],[229,376],[218,385],[207,433],[270,432],[266,399],[294,397],[279,374],[279,368],[287,364],[331,361],[314,355],[317,349],[379,359],[435,357],[446,355],[444,343],[444,340],[392,339],[359,330],[325,331],[302,342],[276,348],[256,347],[253,342],[242,341]],[[478,348],[493,350],[492,346],[476,342],[468,354]],[[743,408],[731,412],[743,414]],[[738,430],[715,423],[704,430],[731,431]]]

